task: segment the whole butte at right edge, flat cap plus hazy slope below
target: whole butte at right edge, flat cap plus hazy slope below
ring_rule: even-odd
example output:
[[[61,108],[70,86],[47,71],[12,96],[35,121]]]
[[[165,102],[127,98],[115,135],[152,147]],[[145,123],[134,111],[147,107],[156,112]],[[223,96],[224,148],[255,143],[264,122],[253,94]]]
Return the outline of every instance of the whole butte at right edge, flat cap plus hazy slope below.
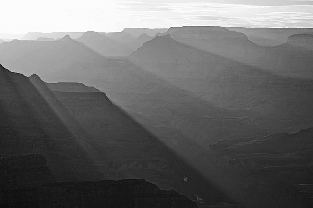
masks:
[[[284,76],[313,78],[313,35],[296,34],[266,50],[260,67]]]

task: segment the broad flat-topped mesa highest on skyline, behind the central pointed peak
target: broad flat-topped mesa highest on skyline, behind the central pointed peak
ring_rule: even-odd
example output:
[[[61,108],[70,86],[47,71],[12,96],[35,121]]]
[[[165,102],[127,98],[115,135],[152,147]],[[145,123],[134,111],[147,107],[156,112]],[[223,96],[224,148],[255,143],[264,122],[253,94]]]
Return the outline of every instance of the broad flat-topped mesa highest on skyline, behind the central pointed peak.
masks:
[[[183,26],[169,28],[165,34],[198,49],[249,64],[264,50],[243,33],[231,32],[224,27]]]

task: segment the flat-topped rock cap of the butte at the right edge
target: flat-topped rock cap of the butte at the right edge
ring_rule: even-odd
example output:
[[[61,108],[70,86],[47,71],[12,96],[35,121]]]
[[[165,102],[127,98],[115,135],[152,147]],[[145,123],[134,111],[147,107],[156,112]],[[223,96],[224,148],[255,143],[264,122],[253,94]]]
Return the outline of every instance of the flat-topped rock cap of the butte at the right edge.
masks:
[[[306,33],[291,35],[286,44],[304,49],[313,49],[313,35]]]

